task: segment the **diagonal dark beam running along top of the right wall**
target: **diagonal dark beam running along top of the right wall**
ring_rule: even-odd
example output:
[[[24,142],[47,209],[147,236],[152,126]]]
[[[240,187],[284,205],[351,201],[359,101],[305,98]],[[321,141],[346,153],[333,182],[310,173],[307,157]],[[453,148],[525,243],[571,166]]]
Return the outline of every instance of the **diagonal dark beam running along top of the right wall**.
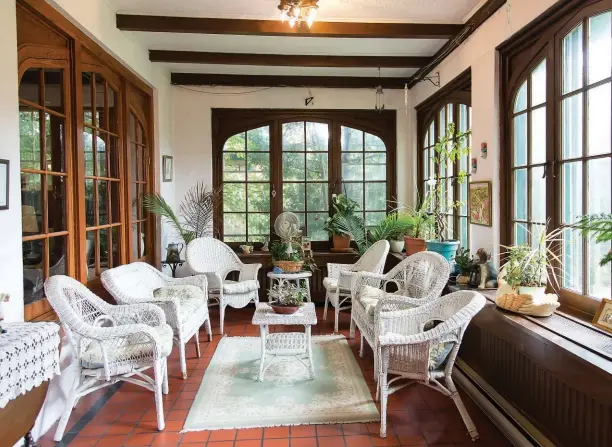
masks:
[[[497,12],[506,3],[506,0],[488,0],[476,11],[472,17],[463,25],[461,30],[453,36],[442,48],[434,54],[430,62],[415,74],[412,75],[408,82],[408,88],[414,87],[423,80],[436,66],[446,59],[453,51],[455,51],[463,42],[467,40],[484,22],[486,22],[493,14]]]

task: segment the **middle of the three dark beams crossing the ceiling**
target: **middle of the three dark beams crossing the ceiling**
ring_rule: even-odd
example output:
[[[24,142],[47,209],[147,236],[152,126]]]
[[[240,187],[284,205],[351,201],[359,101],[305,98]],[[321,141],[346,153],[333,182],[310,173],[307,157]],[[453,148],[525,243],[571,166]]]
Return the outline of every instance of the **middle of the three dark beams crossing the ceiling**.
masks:
[[[413,56],[309,56],[295,54],[202,53],[199,51],[150,50],[151,62],[217,65],[264,65],[276,67],[381,67],[421,68],[429,57]]]

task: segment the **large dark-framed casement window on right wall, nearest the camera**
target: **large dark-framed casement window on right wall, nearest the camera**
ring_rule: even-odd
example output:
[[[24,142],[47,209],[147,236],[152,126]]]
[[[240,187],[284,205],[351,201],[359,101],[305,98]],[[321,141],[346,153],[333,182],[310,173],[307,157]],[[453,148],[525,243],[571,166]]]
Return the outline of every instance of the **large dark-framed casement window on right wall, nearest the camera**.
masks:
[[[565,228],[611,212],[611,25],[609,3],[587,1],[541,24],[535,41],[501,47],[505,245],[533,244],[547,222]],[[610,266],[599,265],[610,248],[563,232],[555,267],[564,304],[592,314],[610,296]]]

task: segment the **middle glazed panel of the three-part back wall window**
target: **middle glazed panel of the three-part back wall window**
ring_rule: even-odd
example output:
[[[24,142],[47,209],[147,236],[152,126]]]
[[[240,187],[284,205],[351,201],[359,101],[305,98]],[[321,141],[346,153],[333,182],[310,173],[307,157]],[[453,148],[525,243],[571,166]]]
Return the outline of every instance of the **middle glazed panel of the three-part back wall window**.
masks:
[[[300,218],[313,241],[329,239],[323,229],[329,215],[329,124],[283,123],[283,211]]]

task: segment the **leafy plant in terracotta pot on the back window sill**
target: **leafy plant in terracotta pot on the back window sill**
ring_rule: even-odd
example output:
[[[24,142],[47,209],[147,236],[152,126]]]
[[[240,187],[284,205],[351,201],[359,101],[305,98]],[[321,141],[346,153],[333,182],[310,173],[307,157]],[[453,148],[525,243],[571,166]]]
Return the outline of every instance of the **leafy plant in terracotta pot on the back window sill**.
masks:
[[[355,214],[359,205],[344,194],[332,198],[332,215],[325,221],[325,230],[332,236],[333,247],[336,250],[348,250],[351,245],[351,236],[361,235],[354,233],[365,232],[363,219]]]

